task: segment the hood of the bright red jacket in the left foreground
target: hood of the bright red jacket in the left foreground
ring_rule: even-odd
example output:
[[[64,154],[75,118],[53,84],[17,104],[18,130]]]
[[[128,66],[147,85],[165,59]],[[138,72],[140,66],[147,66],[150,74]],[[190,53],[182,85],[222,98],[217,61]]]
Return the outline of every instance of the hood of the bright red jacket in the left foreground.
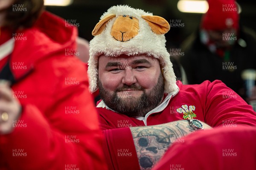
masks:
[[[44,11],[34,26],[15,33],[14,50],[10,68],[22,64],[26,69],[13,70],[15,79],[26,75],[42,59],[58,55],[65,56],[66,49],[76,48],[76,27],[66,26],[65,20]],[[17,39],[17,37],[23,40]]]

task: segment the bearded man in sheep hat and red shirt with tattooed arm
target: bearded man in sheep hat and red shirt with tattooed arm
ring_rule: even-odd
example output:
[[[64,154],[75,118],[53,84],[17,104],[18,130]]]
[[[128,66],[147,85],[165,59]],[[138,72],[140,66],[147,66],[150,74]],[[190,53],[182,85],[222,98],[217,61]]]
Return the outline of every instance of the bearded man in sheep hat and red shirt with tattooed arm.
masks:
[[[113,6],[93,30],[88,76],[102,97],[96,107],[110,170],[149,170],[199,129],[256,125],[252,107],[221,81],[176,82],[163,35],[169,29],[162,17]]]

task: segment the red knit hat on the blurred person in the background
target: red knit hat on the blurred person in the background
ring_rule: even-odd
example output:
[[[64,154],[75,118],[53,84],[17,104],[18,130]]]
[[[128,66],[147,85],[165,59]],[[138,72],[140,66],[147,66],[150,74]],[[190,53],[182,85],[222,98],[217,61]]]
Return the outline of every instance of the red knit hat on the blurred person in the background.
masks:
[[[209,9],[203,15],[201,28],[223,30],[239,27],[238,8],[234,0],[208,0]]]

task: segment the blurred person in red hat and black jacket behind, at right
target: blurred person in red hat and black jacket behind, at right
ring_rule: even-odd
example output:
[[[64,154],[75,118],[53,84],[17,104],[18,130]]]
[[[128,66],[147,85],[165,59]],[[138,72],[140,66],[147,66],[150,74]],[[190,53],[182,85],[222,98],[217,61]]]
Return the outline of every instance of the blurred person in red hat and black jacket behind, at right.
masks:
[[[246,88],[247,78],[244,80],[242,73],[256,69],[256,34],[239,25],[234,0],[208,0],[208,4],[199,30],[181,45],[184,56],[180,62],[188,83],[219,79],[249,102],[256,94],[246,94],[253,89]]]

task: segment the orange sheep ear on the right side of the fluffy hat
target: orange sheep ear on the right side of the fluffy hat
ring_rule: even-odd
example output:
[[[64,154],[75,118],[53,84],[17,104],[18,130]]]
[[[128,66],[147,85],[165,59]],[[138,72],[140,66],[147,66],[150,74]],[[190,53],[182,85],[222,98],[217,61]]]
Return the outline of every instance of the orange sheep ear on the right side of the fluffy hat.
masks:
[[[155,34],[166,34],[170,30],[169,23],[162,17],[154,15],[143,15],[141,17],[148,23]]]

